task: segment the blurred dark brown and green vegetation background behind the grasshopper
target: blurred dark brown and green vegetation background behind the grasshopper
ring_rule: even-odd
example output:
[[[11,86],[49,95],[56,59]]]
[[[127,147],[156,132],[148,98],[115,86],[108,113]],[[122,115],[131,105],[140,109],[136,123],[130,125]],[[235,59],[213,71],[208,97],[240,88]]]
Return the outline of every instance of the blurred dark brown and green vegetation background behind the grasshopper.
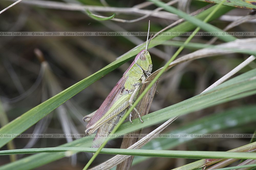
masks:
[[[55,7],[53,5],[55,1],[41,2],[44,5],[40,4],[40,1],[24,0],[3,12],[0,15],[1,32],[146,32],[149,19],[151,20],[150,31],[158,32],[179,18],[174,14],[172,15],[173,17],[167,19],[167,17],[159,17],[157,16],[158,13],[155,13],[154,16],[151,14],[151,16],[136,22],[100,21],[88,16],[85,10],[71,9],[72,5],[69,5],[70,9],[67,7],[65,10]],[[145,15],[131,11],[138,6],[147,4],[144,1],[112,0],[107,1],[107,3],[105,1],[90,0],[58,2],[91,6],[91,12],[103,16],[113,15],[113,11],[109,11],[108,6],[117,7],[116,10],[125,8],[123,12],[114,11],[116,13],[115,19],[120,18],[124,20],[133,20]],[[221,17],[211,21],[210,24],[223,30],[233,21],[237,21],[239,17],[248,18],[250,16],[250,19],[242,19],[240,23],[228,31],[255,31],[255,11],[249,9],[253,3],[249,3],[249,5],[242,4],[240,8],[234,8],[236,5],[239,5],[236,4],[239,1],[232,2],[234,2],[231,5],[233,8],[228,12],[218,11],[223,14],[220,15]],[[11,3],[13,1],[1,1],[0,8],[4,9]],[[173,6],[189,14],[208,4],[202,1],[180,0],[174,3]],[[58,5],[60,6],[60,4]],[[103,7],[106,11],[93,10],[93,7],[97,6]],[[141,7],[141,10],[147,10],[151,13],[156,8],[155,5],[151,4]],[[191,31],[193,30],[191,29]],[[187,37],[174,37],[172,41],[168,41],[172,45],[161,43],[150,49],[153,72],[164,66],[178,49],[179,43],[184,42]],[[252,37],[238,36],[237,38]],[[194,37],[191,40],[191,46],[186,47],[178,57],[192,53],[199,48],[204,48],[204,45],[209,43],[211,39],[212,36]],[[145,42],[145,40],[146,36],[2,36],[0,39],[1,126],[97,72],[115,61],[117,57]],[[217,40],[214,42],[214,45],[221,43],[223,43],[222,40]],[[255,49],[252,50],[255,51]],[[150,113],[200,94],[249,56],[249,54],[244,53],[219,54],[178,64],[162,75],[162,79],[157,86],[158,94],[154,97]],[[24,133],[83,133],[86,123],[82,121],[82,117],[99,108],[131,62],[132,59],[94,82],[91,86],[85,88],[72,99],[58,107],[58,109],[55,109],[52,113],[41,119],[37,124],[29,127]],[[255,68],[255,62],[251,62],[232,77]],[[253,134],[256,120],[254,116],[256,111],[255,101],[255,95],[248,95],[191,112],[190,114],[180,116],[163,133],[194,132],[193,128],[198,128],[196,129],[198,133]],[[232,110],[230,111],[230,109]],[[159,125],[161,123],[145,127],[143,133],[150,133]],[[196,125],[201,126],[199,128]],[[219,125],[219,128],[214,129],[214,125]],[[8,145],[2,147],[1,150],[57,147],[73,140],[76,139],[42,138],[30,140],[29,138],[15,138]],[[251,139],[198,138],[189,141],[164,141],[165,143],[161,143],[161,147],[165,150],[228,151],[247,145]],[[110,141],[106,147],[120,148],[121,142],[122,139],[115,139]],[[152,142],[152,145],[155,144],[155,147],[153,146],[151,149],[159,147],[157,142],[157,140]],[[12,155],[10,157],[2,155],[0,165],[7,165],[10,159],[15,161],[27,156],[30,156],[30,154]],[[52,162],[46,161],[40,167],[28,165],[24,169],[82,169],[91,156],[91,153],[67,155],[56,161],[54,159]],[[93,162],[93,165],[102,163],[111,157],[112,155],[100,154]],[[137,162],[135,158],[136,165],[132,166],[131,169],[172,169],[191,162],[194,162],[194,160],[185,158],[147,158],[141,161],[137,157]],[[237,164],[239,164],[239,161],[232,165]],[[4,169],[5,167],[2,166],[2,168]]]

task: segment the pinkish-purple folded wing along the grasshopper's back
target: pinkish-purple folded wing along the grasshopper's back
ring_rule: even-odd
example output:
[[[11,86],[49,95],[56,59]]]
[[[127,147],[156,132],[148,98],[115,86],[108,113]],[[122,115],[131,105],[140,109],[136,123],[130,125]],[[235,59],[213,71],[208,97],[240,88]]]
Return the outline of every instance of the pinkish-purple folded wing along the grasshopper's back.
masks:
[[[124,83],[126,81],[127,77],[123,76],[118,83],[115,85],[115,87],[111,90],[108,97],[103,101],[100,108],[97,110],[97,112],[92,117],[91,121],[87,124],[87,128],[92,126],[94,123],[96,123],[113,105],[113,101],[115,101],[115,98],[118,96],[118,94],[121,93],[122,87],[124,86]]]

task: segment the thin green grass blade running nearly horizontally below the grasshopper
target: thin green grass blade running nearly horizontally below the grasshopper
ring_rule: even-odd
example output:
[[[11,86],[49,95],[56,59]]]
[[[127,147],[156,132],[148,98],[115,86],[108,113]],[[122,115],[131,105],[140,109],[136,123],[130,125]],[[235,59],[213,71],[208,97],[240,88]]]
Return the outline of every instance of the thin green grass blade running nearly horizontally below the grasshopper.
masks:
[[[256,142],[254,143],[254,145]],[[55,148],[31,148],[31,149],[14,149],[0,151],[0,155],[10,154],[31,154],[40,152],[91,152],[95,153],[97,148],[77,148],[77,147],[55,147]],[[256,153],[241,152],[217,152],[217,151],[174,151],[174,150],[148,150],[148,149],[116,149],[103,148],[100,153],[115,154],[115,155],[133,155],[133,156],[148,156],[162,158],[189,158],[189,159],[256,159]]]

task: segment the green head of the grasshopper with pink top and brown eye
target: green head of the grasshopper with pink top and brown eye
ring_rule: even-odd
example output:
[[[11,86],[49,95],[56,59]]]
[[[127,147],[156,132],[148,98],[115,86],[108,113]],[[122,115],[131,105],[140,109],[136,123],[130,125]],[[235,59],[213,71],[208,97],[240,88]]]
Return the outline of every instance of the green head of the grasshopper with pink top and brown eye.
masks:
[[[151,73],[152,61],[147,50],[142,50],[136,57],[135,62],[145,71]]]

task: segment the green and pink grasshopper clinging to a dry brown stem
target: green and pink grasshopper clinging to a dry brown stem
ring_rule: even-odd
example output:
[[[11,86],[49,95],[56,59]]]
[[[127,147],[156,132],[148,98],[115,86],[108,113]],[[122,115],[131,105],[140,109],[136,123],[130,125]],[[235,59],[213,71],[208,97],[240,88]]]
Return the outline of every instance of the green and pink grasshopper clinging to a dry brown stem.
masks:
[[[148,34],[149,34],[148,26]],[[147,35],[148,41],[148,35]],[[148,44],[146,42],[146,49],[137,54],[130,67],[124,72],[122,78],[111,90],[110,94],[101,104],[100,108],[83,118],[84,121],[89,121],[86,126],[85,133],[92,134],[98,129],[97,134],[110,133],[114,126],[119,122],[127,108],[132,106],[136,100],[142,84],[147,83],[146,78],[151,74],[152,61],[149,52],[147,51]],[[134,108],[143,123],[140,113]],[[130,113],[130,122],[131,120]],[[99,140],[95,138],[94,141]],[[99,147],[103,141],[97,141],[93,147]]]

